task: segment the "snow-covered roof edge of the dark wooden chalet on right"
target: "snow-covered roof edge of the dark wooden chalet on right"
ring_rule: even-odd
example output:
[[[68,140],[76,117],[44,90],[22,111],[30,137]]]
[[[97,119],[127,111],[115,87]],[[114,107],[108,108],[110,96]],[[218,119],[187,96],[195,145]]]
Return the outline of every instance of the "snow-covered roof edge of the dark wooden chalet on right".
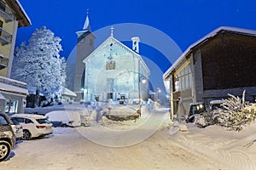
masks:
[[[207,42],[212,37],[215,37],[216,35],[218,35],[218,33],[224,32],[224,31],[230,31],[230,32],[234,32],[236,34],[256,37],[256,31],[254,31],[254,30],[247,30],[247,29],[230,27],[230,26],[218,27],[216,30],[208,33],[205,37],[202,37],[197,42],[190,45],[189,48],[187,48],[184,51],[184,53],[173,63],[173,65],[164,73],[163,79],[166,80],[166,78],[172,73],[172,71],[174,71],[174,69],[177,67],[177,65],[179,65],[182,62],[182,60],[191,52],[191,50],[193,48],[198,47],[199,45]]]

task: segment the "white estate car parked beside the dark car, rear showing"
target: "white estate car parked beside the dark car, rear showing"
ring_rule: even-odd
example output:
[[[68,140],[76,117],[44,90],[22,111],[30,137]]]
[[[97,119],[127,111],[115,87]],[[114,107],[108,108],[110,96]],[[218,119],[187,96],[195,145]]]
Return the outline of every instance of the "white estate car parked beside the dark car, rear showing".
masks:
[[[15,114],[12,119],[23,127],[22,139],[32,139],[53,133],[53,124],[46,116],[33,114]]]

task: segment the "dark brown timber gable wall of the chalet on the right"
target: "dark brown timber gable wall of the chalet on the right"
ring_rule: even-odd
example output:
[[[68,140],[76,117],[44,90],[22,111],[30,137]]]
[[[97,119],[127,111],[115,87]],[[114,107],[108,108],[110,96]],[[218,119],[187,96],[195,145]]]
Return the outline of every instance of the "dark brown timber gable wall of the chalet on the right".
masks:
[[[201,65],[203,81],[197,100],[221,99],[227,94],[241,96],[246,89],[246,100],[253,102],[256,96],[256,37],[221,33],[201,46],[201,64],[197,65]],[[196,87],[201,88],[201,83],[196,83]]]

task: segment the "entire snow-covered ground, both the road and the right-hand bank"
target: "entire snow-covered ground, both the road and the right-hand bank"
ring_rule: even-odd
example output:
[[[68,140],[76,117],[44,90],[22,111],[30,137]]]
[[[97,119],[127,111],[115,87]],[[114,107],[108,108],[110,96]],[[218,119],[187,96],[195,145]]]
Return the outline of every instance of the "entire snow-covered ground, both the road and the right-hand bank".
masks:
[[[125,111],[125,106],[115,111]],[[103,116],[96,122],[92,116],[90,127],[55,127],[46,138],[17,144],[0,170],[256,169],[255,122],[239,133],[191,123],[182,132],[173,126],[167,109],[156,107],[150,113],[143,106],[143,113],[137,121],[113,122]]]

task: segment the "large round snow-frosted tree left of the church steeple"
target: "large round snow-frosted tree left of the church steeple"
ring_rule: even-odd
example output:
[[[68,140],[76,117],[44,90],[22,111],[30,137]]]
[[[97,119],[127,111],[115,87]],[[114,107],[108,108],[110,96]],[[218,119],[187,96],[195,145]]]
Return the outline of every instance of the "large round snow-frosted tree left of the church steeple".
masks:
[[[52,94],[65,83],[66,61],[60,57],[61,38],[45,26],[36,29],[26,42],[15,50],[12,77],[26,82],[30,92],[38,89]]]

